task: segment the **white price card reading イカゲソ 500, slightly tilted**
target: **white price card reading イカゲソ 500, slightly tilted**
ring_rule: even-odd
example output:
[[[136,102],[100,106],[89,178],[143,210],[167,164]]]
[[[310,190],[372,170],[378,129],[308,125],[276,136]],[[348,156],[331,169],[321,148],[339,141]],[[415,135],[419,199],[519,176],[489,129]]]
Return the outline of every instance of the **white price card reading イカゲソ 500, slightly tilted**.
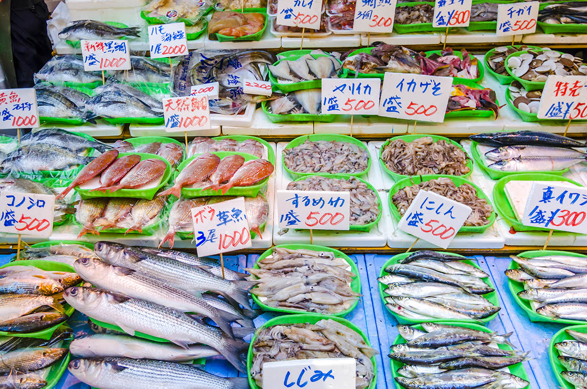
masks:
[[[385,73],[379,116],[443,122],[452,85],[452,77]]]

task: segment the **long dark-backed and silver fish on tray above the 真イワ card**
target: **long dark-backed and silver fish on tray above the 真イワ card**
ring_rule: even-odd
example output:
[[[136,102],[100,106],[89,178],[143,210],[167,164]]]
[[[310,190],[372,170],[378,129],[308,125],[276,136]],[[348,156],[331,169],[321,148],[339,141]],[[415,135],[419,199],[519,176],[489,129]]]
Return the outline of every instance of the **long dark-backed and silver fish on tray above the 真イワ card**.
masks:
[[[548,132],[515,131],[471,135],[469,137],[485,147],[492,169],[504,172],[542,172],[564,170],[584,162],[585,143]]]

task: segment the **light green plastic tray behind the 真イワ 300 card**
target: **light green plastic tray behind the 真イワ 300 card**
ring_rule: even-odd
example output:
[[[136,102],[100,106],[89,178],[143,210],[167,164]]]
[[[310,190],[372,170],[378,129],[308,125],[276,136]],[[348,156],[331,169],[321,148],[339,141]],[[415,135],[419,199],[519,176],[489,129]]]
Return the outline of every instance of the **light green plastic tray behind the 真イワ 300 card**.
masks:
[[[524,224],[518,221],[515,210],[511,206],[510,201],[507,199],[507,196],[505,195],[505,184],[507,184],[510,181],[563,181],[571,182],[577,186],[581,186],[579,183],[573,180],[569,180],[566,177],[545,173],[517,173],[513,175],[508,175],[500,179],[497,183],[495,183],[495,186],[493,187],[493,200],[495,203],[495,210],[497,210],[500,216],[503,217],[505,221],[508,224],[510,224],[510,226],[514,227],[514,230],[516,231],[550,230],[542,227],[524,226]],[[568,232],[568,234],[572,233]]]

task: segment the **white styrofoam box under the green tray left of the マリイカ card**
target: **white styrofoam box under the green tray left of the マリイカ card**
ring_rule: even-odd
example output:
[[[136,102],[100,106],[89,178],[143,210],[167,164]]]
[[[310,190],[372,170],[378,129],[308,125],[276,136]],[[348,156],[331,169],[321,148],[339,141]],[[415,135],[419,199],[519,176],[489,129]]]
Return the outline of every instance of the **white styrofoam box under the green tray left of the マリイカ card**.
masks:
[[[222,135],[306,135],[313,132],[313,122],[273,123],[261,108],[255,112],[250,127],[222,126]]]

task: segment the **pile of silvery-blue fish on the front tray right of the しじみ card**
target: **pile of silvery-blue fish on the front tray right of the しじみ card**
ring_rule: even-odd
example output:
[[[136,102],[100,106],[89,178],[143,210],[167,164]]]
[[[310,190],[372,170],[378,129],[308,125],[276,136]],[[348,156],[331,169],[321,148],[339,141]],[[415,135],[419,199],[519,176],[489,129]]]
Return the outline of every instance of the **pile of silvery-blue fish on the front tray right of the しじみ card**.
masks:
[[[508,367],[528,360],[528,354],[501,349],[512,346],[510,334],[445,324],[397,326],[405,343],[394,344],[389,357],[402,367],[396,381],[407,389],[522,389],[528,381],[508,373]]]

